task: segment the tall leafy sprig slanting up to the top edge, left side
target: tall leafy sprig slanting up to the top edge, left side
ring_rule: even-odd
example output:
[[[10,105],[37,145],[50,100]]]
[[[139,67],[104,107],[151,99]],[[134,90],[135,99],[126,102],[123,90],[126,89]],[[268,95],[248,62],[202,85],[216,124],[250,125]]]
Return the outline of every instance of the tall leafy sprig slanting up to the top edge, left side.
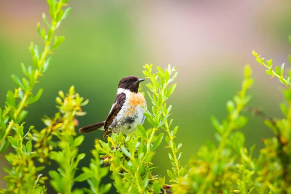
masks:
[[[28,114],[24,108],[36,102],[41,97],[42,89],[40,89],[36,95],[32,94],[32,89],[35,83],[38,82],[39,76],[42,76],[49,67],[50,58],[47,59],[47,56],[65,40],[64,36],[54,36],[54,33],[60,26],[61,21],[69,14],[70,8],[66,8],[65,11],[62,9],[67,2],[68,0],[48,0],[49,13],[51,16],[50,24],[46,15],[43,13],[43,20],[49,28],[48,33],[45,32],[44,28],[40,30],[40,24],[37,24],[37,31],[44,40],[45,48],[40,53],[38,46],[31,43],[29,50],[32,54],[32,66],[27,68],[23,63],[21,64],[22,71],[25,75],[21,80],[16,75],[12,75],[12,79],[18,88],[15,89],[15,92],[11,90],[8,91],[5,109],[3,111],[0,109],[0,153],[8,146],[6,137],[9,135],[11,129],[21,123]],[[51,44],[52,39],[54,39],[53,44]],[[20,99],[16,105],[17,98]],[[6,127],[9,120],[9,125]]]

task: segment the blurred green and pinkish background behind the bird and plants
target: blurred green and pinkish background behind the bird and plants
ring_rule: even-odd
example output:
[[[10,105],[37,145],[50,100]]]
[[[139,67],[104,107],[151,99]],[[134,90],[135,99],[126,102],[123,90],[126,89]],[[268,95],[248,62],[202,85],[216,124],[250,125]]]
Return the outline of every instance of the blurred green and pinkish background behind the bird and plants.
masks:
[[[276,65],[286,62],[288,67],[290,0],[71,0],[69,4],[72,11],[57,31],[65,35],[65,42],[55,50],[49,70],[37,84],[36,89],[41,87],[44,92],[28,107],[27,129],[30,125],[42,129],[41,116],[57,111],[58,91],[67,91],[71,85],[90,100],[84,107],[88,114],[79,119],[80,126],[104,120],[118,81],[128,75],[143,77],[142,66],[151,63],[178,67],[178,86],[168,102],[173,105],[174,125],[179,126],[176,141],[183,144],[183,165],[206,140],[214,140],[210,115],[219,119],[226,116],[226,101],[240,89],[245,64],[251,65],[255,78],[250,104],[269,116],[282,116],[280,83],[265,75],[252,50],[273,58]],[[7,90],[15,87],[11,74],[22,75],[21,62],[31,65],[30,41],[43,48],[36,31],[42,12],[48,15],[45,0],[0,2],[1,107]],[[145,91],[145,82],[143,86]],[[272,132],[260,118],[246,114],[250,117],[242,129],[246,146],[256,144],[258,154],[261,138]],[[88,165],[94,139],[101,137],[101,131],[85,135],[80,152],[87,156],[80,166]],[[163,176],[171,165],[168,152],[161,146],[153,160],[159,166],[157,173]],[[3,157],[0,166],[9,166]],[[0,170],[1,188],[5,188],[4,176]],[[54,192],[49,189],[49,193]]]

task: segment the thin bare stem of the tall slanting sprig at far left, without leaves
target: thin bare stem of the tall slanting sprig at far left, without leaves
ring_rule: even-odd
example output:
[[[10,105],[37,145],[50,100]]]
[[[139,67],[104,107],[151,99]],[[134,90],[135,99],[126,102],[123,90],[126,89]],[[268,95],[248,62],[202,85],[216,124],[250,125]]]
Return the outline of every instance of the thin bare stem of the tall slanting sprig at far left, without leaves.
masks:
[[[57,9],[57,11],[54,13],[54,18],[56,18],[56,13],[59,13],[60,10],[62,9],[62,0],[60,0],[59,2],[60,2],[60,3],[58,4],[58,9]],[[53,34],[54,34],[54,32],[55,32],[56,25],[57,25],[57,22],[53,20],[53,23],[52,23],[52,26],[51,26],[51,32],[52,32],[52,33],[51,33],[51,36],[49,37],[49,40],[46,41],[46,46],[45,46],[45,49],[44,49],[44,51],[43,51],[43,53],[42,53],[41,59],[37,61],[37,64],[38,64],[39,66],[43,64],[44,60],[46,59],[46,57],[48,56],[48,54],[49,54],[49,52],[50,52],[49,47],[50,47],[51,39],[52,39]],[[36,69],[36,71],[35,71],[35,82],[37,81],[37,78],[38,78],[40,75],[41,75],[41,74],[39,73],[38,69]],[[24,93],[24,96],[23,96],[23,98],[22,98],[22,100],[21,100],[21,102],[20,102],[20,105],[19,105],[19,107],[17,108],[16,113],[14,114],[15,117],[17,117],[18,114],[19,114],[19,113],[24,109],[24,107],[26,106],[26,101],[27,101],[29,95],[31,94],[31,90],[32,90],[32,88],[30,89],[30,91],[26,91],[26,92]],[[3,137],[2,137],[1,140],[0,140],[0,145],[1,145],[1,144],[3,143],[3,141],[6,139],[6,137],[7,137],[8,134],[10,133],[11,129],[15,126],[15,124],[16,124],[16,123],[15,123],[14,120],[12,120],[12,121],[9,123],[7,129],[5,130],[5,133],[4,133]]]

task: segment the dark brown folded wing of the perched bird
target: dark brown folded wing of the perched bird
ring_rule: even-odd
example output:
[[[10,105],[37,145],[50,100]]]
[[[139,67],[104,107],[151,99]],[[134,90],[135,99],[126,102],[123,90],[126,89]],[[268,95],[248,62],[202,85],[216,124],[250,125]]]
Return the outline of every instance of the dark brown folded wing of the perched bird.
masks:
[[[105,120],[103,139],[105,138],[106,135],[111,134],[109,133],[108,128],[112,124],[115,116],[122,109],[122,106],[125,102],[125,98],[126,98],[126,95],[124,93],[120,93],[116,95],[115,101],[113,103],[113,107],[111,108],[111,111]]]

